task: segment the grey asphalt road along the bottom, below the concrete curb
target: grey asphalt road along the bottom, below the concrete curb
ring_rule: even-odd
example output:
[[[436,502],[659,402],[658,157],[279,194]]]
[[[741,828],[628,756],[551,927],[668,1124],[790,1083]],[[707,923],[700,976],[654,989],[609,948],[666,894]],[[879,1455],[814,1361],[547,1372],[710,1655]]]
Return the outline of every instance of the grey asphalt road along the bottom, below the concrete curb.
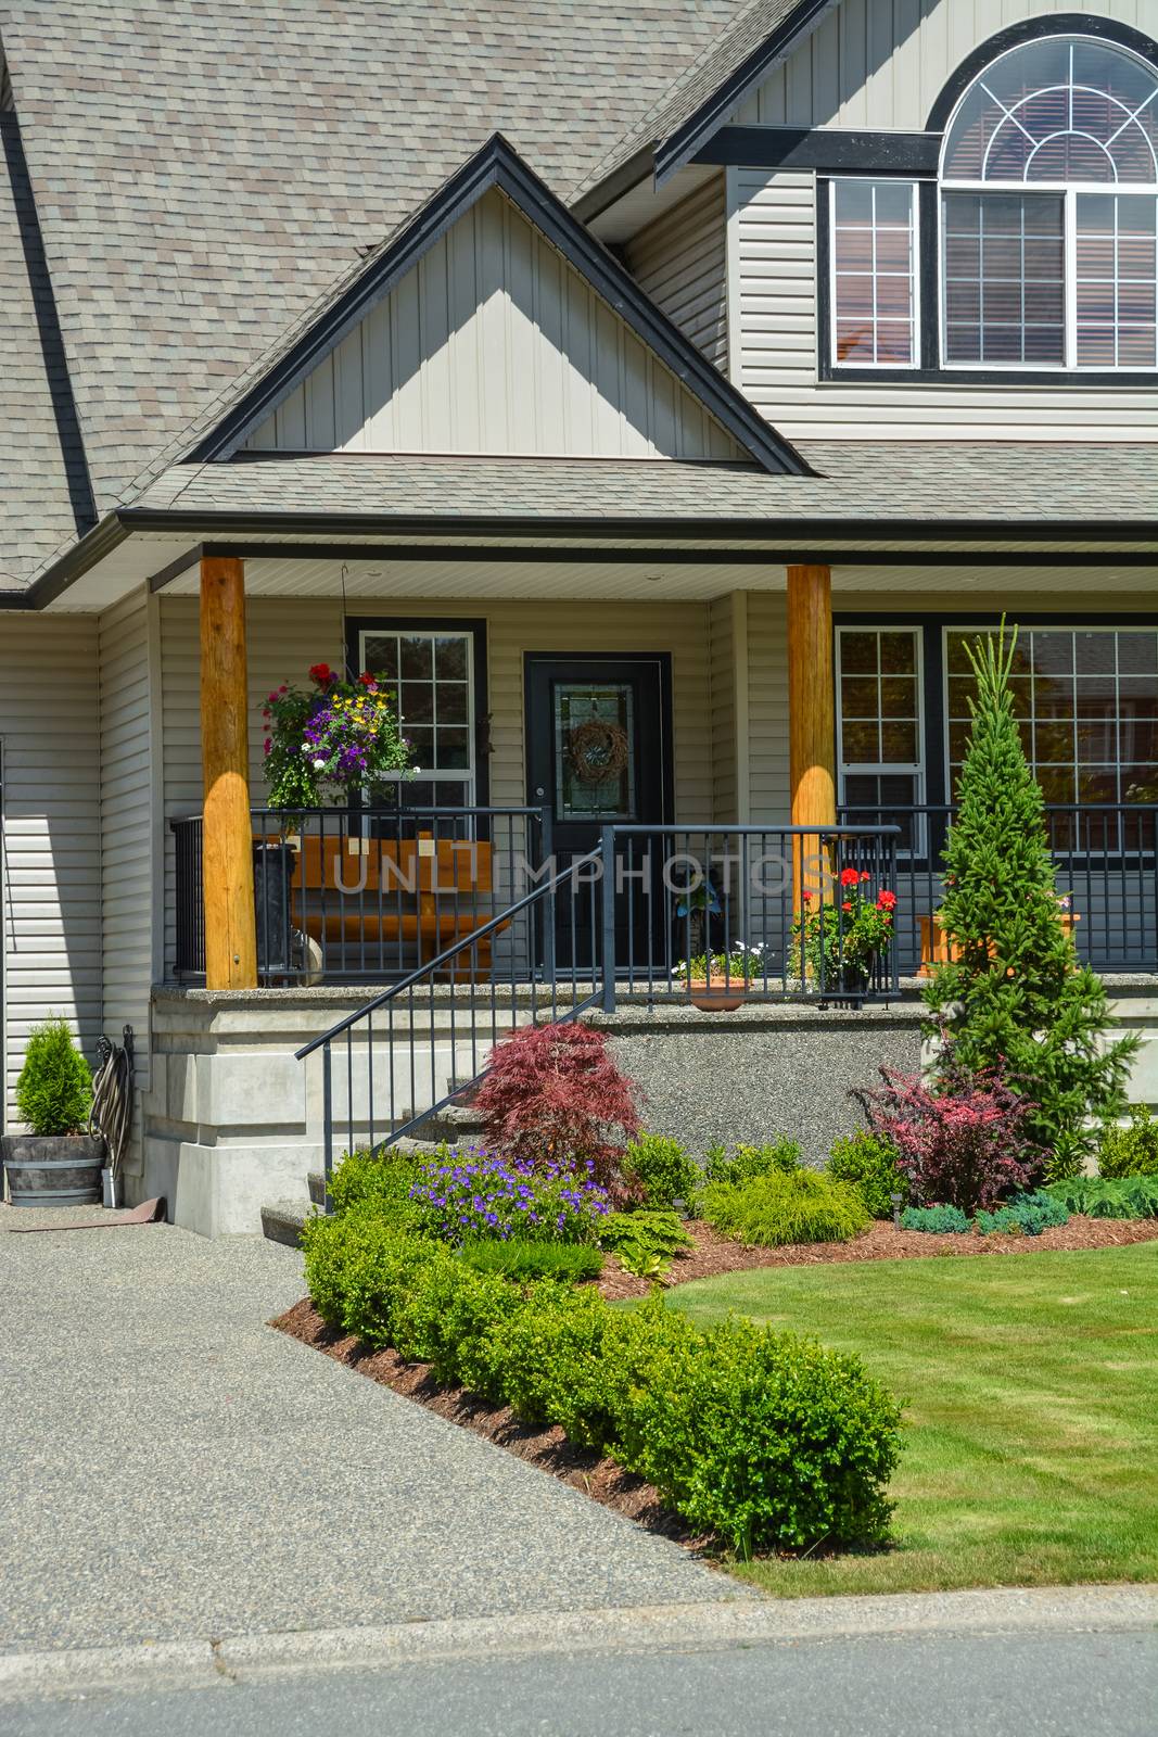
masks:
[[[7,1737],[1155,1737],[1158,1636],[861,1635],[441,1659],[9,1704]]]

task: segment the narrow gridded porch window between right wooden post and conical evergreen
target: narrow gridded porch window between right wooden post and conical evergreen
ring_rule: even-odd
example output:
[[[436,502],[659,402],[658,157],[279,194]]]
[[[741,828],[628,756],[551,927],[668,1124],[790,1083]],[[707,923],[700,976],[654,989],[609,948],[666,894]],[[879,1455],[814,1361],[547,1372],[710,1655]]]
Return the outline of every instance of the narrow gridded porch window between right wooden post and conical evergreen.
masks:
[[[922,646],[917,627],[837,629],[840,801],[892,820],[924,802]],[[903,825],[908,825],[905,820]],[[906,835],[901,848],[913,848]]]

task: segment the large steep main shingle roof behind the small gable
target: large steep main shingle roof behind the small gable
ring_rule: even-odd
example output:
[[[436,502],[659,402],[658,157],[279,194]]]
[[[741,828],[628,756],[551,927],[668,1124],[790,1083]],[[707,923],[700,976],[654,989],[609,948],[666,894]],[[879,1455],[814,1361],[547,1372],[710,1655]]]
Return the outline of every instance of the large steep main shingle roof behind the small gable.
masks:
[[[734,14],[0,0],[97,509],[495,130],[566,196]],[[0,214],[0,281],[19,290],[17,248]],[[42,391],[35,443],[52,429]],[[14,535],[75,535],[21,457],[28,433],[0,426],[0,566]]]

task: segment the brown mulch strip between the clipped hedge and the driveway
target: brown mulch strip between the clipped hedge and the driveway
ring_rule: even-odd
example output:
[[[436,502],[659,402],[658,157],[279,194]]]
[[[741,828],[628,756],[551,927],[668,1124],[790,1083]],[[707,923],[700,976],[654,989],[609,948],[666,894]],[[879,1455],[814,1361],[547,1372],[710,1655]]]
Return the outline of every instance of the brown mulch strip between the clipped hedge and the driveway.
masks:
[[[710,1558],[712,1541],[691,1532],[679,1515],[665,1508],[660,1492],[651,1483],[623,1471],[611,1459],[601,1459],[590,1449],[573,1447],[557,1426],[536,1430],[533,1424],[519,1423],[507,1405],[493,1410],[465,1388],[441,1388],[431,1376],[429,1364],[406,1364],[398,1351],[375,1351],[359,1339],[326,1327],[309,1298],[302,1298],[269,1325],[286,1332],[292,1339],[300,1339],[302,1344],[325,1351],[335,1362],[370,1376],[372,1381],[380,1381],[382,1386],[392,1388],[403,1398],[425,1405],[427,1410],[438,1412],[448,1423],[474,1430],[476,1435],[505,1447],[509,1454],[526,1459],[540,1471],[550,1471],[563,1483],[571,1483],[583,1496],[602,1503],[604,1508],[613,1508],[649,1532],[670,1537],[705,1560]]]

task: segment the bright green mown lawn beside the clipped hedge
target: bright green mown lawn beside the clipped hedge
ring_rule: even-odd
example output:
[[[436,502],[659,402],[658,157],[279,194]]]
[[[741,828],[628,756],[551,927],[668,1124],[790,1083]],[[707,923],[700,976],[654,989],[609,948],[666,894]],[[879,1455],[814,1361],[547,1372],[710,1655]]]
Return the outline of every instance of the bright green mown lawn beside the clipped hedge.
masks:
[[[894,1548],[736,1569],[764,1591],[1158,1581],[1158,1244],[766,1266],[668,1303],[858,1351],[906,1403]]]

